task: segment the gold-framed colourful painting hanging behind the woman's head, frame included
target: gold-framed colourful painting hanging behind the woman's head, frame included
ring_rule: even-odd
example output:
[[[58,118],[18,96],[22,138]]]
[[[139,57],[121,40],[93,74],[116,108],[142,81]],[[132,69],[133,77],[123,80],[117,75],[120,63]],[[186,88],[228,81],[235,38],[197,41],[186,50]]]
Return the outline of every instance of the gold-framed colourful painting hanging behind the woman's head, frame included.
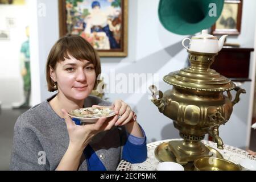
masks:
[[[80,35],[101,57],[127,56],[128,0],[59,0],[59,33]]]

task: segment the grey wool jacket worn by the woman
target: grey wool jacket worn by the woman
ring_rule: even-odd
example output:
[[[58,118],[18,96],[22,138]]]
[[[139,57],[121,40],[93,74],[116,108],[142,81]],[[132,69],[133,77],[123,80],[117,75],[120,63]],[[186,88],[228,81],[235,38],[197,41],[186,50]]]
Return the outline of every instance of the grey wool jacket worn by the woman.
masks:
[[[15,123],[11,170],[55,170],[67,151],[69,137],[64,119],[52,110],[49,98],[26,111]],[[98,97],[89,96],[84,106],[110,105]],[[100,156],[107,170],[115,170],[122,156],[122,146],[127,139],[123,127],[97,134],[90,146]],[[103,159],[102,156],[105,156]],[[87,170],[81,159],[79,170]]]

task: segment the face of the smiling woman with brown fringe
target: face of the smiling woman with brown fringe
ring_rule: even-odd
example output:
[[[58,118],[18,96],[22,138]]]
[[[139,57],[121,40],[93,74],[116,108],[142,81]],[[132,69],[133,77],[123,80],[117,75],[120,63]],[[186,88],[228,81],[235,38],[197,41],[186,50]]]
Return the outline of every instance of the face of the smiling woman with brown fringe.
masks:
[[[51,78],[57,82],[58,92],[70,100],[84,100],[92,92],[96,80],[94,65],[87,60],[77,60],[68,55],[50,69]]]

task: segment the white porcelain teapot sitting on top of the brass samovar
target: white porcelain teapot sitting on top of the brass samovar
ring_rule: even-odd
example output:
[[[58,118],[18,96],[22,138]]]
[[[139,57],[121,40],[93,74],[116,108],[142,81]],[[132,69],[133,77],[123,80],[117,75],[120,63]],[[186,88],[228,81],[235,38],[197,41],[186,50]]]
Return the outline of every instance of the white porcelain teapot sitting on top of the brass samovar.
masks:
[[[217,53],[219,52],[228,35],[223,35],[218,40],[216,36],[208,34],[208,30],[202,30],[201,35],[192,36],[191,39],[185,38],[182,40],[182,46],[188,51],[203,52],[203,53]],[[189,48],[184,45],[185,40],[189,40]]]

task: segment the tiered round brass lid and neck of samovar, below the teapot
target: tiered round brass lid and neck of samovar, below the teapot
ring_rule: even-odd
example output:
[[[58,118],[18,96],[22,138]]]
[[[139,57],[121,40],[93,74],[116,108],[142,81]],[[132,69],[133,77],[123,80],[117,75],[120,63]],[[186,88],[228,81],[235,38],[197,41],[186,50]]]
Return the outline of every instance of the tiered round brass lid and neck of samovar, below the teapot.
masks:
[[[165,82],[180,88],[211,92],[228,91],[236,87],[229,78],[220,75],[214,69],[210,69],[210,64],[213,63],[216,54],[189,53],[191,66],[164,76]]]

